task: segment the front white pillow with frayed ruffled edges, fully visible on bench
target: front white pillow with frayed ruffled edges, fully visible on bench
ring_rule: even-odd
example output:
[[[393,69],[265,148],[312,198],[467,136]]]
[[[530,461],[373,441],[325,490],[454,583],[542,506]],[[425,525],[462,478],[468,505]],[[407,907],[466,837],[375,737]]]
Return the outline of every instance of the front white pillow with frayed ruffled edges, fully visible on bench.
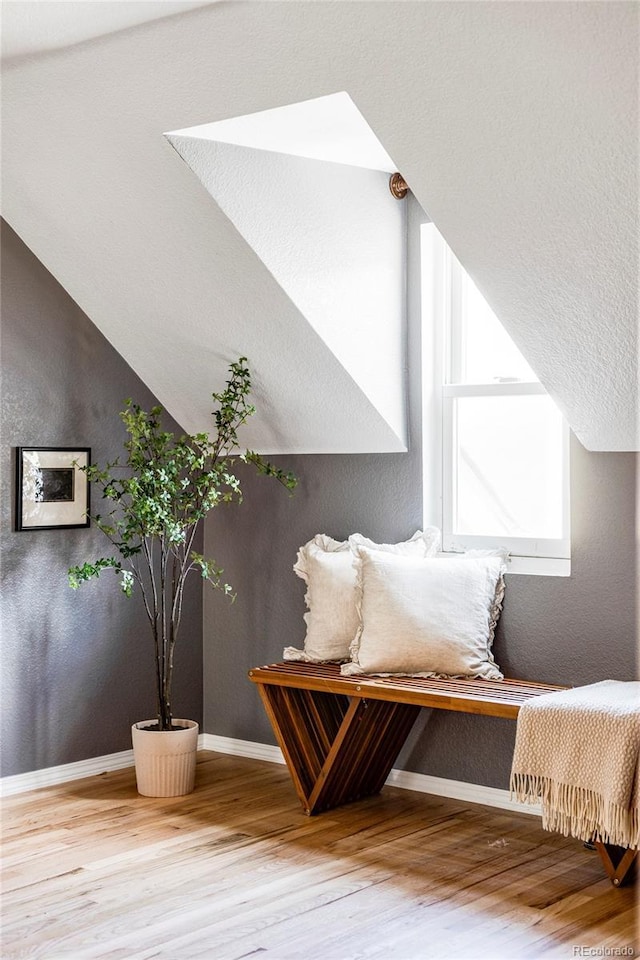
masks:
[[[491,652],[502,557],[403,557],[365,547],[357,555],[359,626],[345,676],[503,679]]]

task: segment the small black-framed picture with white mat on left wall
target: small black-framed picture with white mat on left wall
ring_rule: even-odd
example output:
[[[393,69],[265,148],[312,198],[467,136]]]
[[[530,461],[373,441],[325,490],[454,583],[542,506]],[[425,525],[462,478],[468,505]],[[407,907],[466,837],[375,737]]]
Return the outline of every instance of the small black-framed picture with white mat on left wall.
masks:
[[[89,526],[89,447],[18,447],[16,529]]]

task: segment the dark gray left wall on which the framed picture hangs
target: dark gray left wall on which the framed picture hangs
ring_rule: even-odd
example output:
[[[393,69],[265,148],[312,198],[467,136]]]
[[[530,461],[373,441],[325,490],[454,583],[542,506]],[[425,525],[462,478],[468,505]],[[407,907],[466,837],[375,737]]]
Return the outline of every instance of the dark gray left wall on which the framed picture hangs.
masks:
[[[113,573],[72,591],[71,564],[108,554],[95,528],[16,532],[15,447],[89,446],[113,459],[126,397],[156,401],[2,224],[2,775],[131,747],[155,716],[152,642]],[[171,422],[168,421],[171,429]],[[175,425],[173,425],[175,428]],[[186,602],[174,715],[201,720],[201,587]]]

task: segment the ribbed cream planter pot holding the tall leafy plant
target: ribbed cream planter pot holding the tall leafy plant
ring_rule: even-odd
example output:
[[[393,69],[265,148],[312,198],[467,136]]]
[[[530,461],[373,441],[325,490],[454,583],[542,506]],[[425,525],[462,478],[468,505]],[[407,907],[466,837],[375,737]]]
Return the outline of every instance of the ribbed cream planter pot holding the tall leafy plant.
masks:
[[[180,730],[148,730],[156,720],[141,720],[131,728],[138,793],[143,797],[181,797],[196,780],[198,724],[174,720]]]

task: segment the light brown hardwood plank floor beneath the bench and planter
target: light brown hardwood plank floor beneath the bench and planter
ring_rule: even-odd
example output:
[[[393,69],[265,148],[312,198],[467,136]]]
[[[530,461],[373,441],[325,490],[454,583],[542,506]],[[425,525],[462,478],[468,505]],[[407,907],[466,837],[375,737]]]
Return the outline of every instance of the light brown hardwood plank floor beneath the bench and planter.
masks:
[[[286,769],[204,752],[188,797],[133,771],[3,801],[2,958],[633,956],[636,888],[535,817],[415,794],[305,817]],[[621,948],[627,948],[620,954]]]

